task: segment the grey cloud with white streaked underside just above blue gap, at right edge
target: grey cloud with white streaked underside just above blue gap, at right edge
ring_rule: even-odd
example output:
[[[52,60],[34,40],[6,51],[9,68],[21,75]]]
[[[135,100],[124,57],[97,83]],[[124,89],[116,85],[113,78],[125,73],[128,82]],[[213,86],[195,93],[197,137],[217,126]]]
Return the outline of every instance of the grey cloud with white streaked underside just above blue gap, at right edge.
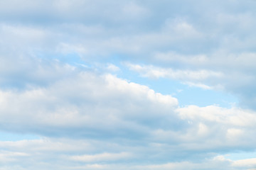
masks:
[[[204,56],[187,57],[188,60],[186,60],[184,56],[170,55],[171,62],[183,65],[183,67],[174,67],[175,69],[173,69],[173,67],[143,64],[125,65],[141,77],[174,79],[188,86],[198,86],[202,89],[213,89],[233,94],[240,99],[240,106],[255,109],[255,96],[252,94],[255,93],[253,86],[256,82],[255,71],[251,64],[254,58],[255,54],[243,54],[231,55],[223,60],[218,57]]]

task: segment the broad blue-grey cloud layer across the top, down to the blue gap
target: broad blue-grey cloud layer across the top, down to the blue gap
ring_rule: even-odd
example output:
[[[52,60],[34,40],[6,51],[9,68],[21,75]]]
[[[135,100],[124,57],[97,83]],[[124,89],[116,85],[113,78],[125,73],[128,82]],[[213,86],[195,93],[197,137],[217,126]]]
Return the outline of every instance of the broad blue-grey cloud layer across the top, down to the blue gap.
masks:
[[[173,73],[179,72],[166,76],[166,71],[158,69],[154,77],[176,79],[181,72],[181,77],[217,73],[222,76],[181,81],[204,89],[223,89],[238,96],[240,106],[255,108],[255,98],[250,95],[255,84],[252,1],[211,2],[218,10],[212,10],[203,1],[191,4],[189,1],[56,0],[44,4],[41,1],[1,1],[1,4],[4,6],[0,29],[2,57],[10,57],[11,51],[20,58],[32,55],[65,62],[67,57],[75,55],[93,63],[118,56],[120,61],[139,61],[169,68],[167,72],[171,69]],[[178,7],[182,10],[176,10]]]

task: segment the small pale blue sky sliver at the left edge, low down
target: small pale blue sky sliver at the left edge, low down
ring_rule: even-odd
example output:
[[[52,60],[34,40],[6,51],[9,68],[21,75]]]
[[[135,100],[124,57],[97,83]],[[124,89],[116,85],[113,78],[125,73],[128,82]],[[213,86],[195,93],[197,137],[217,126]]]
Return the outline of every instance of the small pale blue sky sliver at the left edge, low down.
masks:
[[[0,131],[0,141],[38,140],[40,137],[33,134],[23,134]]]

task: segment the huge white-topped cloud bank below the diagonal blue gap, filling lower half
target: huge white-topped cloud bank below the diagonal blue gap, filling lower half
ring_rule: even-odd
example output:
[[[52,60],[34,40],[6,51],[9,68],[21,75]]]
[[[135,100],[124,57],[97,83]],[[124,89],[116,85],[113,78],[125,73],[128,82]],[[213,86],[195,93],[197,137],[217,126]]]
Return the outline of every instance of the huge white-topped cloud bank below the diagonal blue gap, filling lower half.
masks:
[[[7,167],[28,168],[20,160],[33,157],[31,168],[39,162],[44,168],[60,168],[65,161],[66,169],[119,166],[110,162],[122,164],[124,169],[183,169],[186,164],[206,169],[208,163],[194,163],[195,157],[210,159],[234,149],[255,149],[253,111],[218,106],[180,108],[176,98],[112,74],[78,68],[68,72],[71,77],[60,76],[47,86],[1,90],[1,130],[48,137],[1,142]],[[53,164],[55,159],[47,158],[48,154],[60,156]],[[125,165],[127,161],[138,165]],[[140,165],[148,161],[159,165]],[[238,163],[225,161],[228,168]],[[218,162],[214,164],[218,166]]]

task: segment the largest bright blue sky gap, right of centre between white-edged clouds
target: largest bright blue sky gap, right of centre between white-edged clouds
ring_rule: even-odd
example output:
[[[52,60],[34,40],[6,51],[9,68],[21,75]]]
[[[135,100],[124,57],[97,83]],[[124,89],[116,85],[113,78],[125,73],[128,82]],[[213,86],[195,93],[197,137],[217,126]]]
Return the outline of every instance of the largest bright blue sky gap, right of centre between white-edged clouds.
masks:
[[[122,65],[117,65],[122,67]],[[117,74],[122,79],[149,86],[157,93],[169,94],[178,99],[179,106],[196,105],[200,107],[217,105],[224,108],[230,108],[238,103],[238,98],[223,91],[212,89],[202,89],[196,86],[188,86],[177,80],[172,79],[150,79],[141,77],[136,72],[122,67],[122,72]]]

